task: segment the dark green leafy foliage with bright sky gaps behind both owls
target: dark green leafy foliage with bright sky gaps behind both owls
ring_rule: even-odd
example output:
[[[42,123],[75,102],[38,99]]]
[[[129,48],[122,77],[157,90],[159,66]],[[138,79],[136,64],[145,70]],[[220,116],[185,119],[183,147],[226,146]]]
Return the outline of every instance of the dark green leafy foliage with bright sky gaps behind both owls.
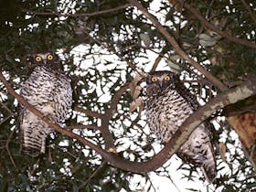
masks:
[[[186,4],[197,8],[229,36],[252,43],[255,42],[255,21],[253,23],[253,17],[241,2],[198,0],[186,1]],[[27,57],[48,49],[56,51],[72,79],[74,103],[66,126],[102,148],[105,145],[100,130],[102,120],[78,112],[75,107],[104,114],[116,92],[138,72],[176,65],[184,70],[182,78],[201,101],[208,101],[218,91],[211,82],[202,80],[203,75],[182,59],[158,28],[135,7],[116,8],[126,4],[124,0],[12,0],[0,5],[0,65],[6,79],[19,91],[29,74]],[[246,74],[256,72],[254,48],[231,42],[204,27],[178,1],[150,0],[141,4],[157,16],[187,55],[226,85],[232,86]],[[255,11],[255,2],[247,4]],[[111,11],[102,14],[104,10]],[[145,42],[143,37],[148,37],[150,42]],[[158,56],[162,59],[160,63]],[[17,102],[2,83],[0,91],[0,191],[154,190],[147,174],[141,175],[144,179],[134,181],[136,174],[109,165],[88,146],[59,133],[50,136],[48,154],[39,158],[22,154],[16,128]],[[132,101],[130,92],[124,92],[117,103],[118,111],[110,119],[109,129],[119,155],[141,162],[152,158],[162,145],[149,133],[144,113],[129,112]],[[209,191],[255,190],[252,167],[241,151],[239,139],[219,114],[214,120],[213,137],[216,144],[221,141],[227,146],[227,159],[226,163],[218,160],[221,176],[216,184],[205,188]],[[79,125],[91,125],[94,129],[79,129]],[[172,176],[166,167],[155,173],[164,173],[172,180],[175,174]],[[182,164],[179,169],[184,181],[200,179],[203,182],[195,168]]]

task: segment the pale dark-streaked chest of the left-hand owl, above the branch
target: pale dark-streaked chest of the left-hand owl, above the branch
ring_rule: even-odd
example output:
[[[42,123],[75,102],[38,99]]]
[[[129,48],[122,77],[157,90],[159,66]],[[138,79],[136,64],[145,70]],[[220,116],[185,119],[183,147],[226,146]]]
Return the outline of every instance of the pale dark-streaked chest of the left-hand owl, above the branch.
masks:
[[[62,74],[36,69],[22,86],[22,96],[45,114],[63,119],[72,103],[69,79]]]

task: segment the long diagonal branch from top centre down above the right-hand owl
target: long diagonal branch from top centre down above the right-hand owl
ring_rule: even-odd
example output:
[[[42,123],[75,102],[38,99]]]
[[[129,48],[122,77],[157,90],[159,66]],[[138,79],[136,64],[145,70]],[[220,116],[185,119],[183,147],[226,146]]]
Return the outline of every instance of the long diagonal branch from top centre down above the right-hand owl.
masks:
[[[172,37],[169,32],[163,27],[159,21],[150,14],[146,8],[144,8],[143,5],[141,5],[136,0],[127,0],[131,5],[136,6],[143,14],[146,16],[154,25],[155,27],[165,36],[165,38],[168,40],[168,42],[172,45],[172,47],[175,49],[176,53],[179,54],[183,59],[187,60],[194,68],[199,70],[201,73],[203,73],[208,80],[210,80],[216,87],[219,88],[220,91],[227,90],[227,87],[222,84],[218,79],[216,79],[210,72],[208,72],[206,69],[204,69],[202,66],[200,66],[197,61],[190,58],[187,53],[179,47],[179,45],[176,42],[176,39]]]

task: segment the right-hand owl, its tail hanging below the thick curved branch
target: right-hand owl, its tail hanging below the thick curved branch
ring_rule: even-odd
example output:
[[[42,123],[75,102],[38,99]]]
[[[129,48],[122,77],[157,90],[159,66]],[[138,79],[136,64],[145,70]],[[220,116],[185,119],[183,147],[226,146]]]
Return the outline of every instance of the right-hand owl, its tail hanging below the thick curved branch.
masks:
[[[146,78],[145,114],[152,133],[163,143],[199,107],[197,97],[190,93],[179,76],[171,71],[155,71]],[[217,175],[216,159],[210,142],[208,125],[200,124],[187,142],[176,152],[185,162],[200,167],[209,183]]]

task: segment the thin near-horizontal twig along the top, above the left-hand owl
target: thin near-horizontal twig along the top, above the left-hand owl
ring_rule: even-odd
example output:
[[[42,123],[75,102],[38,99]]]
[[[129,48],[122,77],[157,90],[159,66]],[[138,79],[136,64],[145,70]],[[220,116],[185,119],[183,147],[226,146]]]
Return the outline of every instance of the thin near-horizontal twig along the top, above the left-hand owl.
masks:
[[[111,9],[106,9],[102,11],[92,12],[92,13],[84,13],[84,14],[59,14],[59,13],[44,13],[44,12],[33,12],[29,10],[24,10],[28,14],[35,15],[35,16],[70,16],[70,17],[81,17],[81,16],[99,16],[102,14],[111,13],[114,11],[122,10],[124,8],[127,8],[129,4],[120,5]]]

